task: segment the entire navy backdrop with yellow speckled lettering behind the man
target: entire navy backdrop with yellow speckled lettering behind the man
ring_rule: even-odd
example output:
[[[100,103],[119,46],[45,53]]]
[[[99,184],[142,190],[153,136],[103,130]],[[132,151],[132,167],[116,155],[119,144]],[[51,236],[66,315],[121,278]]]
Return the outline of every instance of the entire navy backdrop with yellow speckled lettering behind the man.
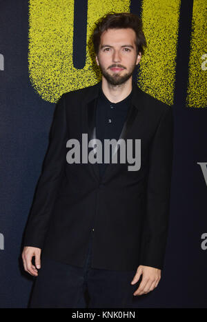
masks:
[[[137,308],[207,308],[206,0],[0,1],[0,307],[27,308],[23,230],[55,103],[101,80],[91,33],[110,11],[141,17],[148,47],[133,80],[175,118],[170,226],[158,287]]]

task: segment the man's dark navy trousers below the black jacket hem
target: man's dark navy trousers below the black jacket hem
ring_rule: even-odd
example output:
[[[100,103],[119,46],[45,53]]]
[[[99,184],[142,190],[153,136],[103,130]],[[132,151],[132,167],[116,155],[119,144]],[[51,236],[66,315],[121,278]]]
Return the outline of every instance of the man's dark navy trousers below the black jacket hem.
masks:
[[[84,268],[42,256],[29,308],[136,308],[139,282],[131,285],[136,270],[90,268],[92,236]]]

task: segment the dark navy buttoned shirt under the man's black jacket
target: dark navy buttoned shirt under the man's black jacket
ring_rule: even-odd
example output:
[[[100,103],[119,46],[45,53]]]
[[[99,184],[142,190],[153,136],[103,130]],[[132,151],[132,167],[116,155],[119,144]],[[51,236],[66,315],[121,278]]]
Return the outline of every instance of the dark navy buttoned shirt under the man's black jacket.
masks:
[[[97,112],[96,112],[96,134],[97,139],[104,146],[104,139],[119,139],[121,130],[126,120],[128,108],[130,108],[132,98],[132,91],[122,101],[118,103],[112,103],[103,94],[102,88],[99,90],[99,97],[97,100]],[[102,162],[99,164],[99,173],[102,177],[104,170],[108,163],[104,163],[104,150],[102,149]],[[111,160],[111,156],[110,156]]]

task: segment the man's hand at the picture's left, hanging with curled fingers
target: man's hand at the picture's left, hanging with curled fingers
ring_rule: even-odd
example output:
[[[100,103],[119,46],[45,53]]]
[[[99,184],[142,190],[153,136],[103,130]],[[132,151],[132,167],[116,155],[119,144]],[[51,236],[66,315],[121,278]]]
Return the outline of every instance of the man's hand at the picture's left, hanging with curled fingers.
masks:
[[[41,268],[41,248],[26,246],[23,248],[21,254],[23,259],[23,267],[29,274],[33,276],[38,276],[37,268]],[[35,257],[35,266],[32,265],[32,257]]]

